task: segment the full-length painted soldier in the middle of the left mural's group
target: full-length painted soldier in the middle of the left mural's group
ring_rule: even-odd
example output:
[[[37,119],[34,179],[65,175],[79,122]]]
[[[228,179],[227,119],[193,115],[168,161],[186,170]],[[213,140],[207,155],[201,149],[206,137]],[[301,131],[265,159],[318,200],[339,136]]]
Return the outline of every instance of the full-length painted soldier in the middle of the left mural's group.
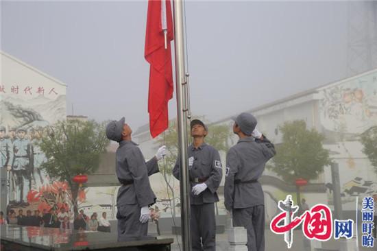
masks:
[[[27,193],[31,189],[33,174],[32,143],[26,139],[26,130],[17,130],[18,139],[13,143],[14,160],[12,173],[14,175],[14,200],[21,204],[27,203]]]

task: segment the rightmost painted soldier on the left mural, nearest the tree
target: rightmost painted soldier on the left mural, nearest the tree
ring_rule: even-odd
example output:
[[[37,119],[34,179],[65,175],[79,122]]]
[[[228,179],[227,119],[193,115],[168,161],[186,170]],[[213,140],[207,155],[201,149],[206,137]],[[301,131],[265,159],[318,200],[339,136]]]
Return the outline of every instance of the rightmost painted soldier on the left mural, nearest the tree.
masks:
[[[46,155],[42,150],[40,150],[39,143],[42,139],[43,128],[38,127],[36,130],[33,130],[32,134],[32,146],[33,146],[33,184],[32,187],[38,188],[45,184],[46,174],[40,167],[43,163],[47,161]]]

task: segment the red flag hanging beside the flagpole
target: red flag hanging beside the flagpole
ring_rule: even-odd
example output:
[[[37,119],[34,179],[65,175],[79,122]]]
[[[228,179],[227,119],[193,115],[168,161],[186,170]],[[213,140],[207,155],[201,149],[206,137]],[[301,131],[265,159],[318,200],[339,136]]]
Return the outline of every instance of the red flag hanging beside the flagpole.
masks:
[[[162,6],[164,2],[166,10]],[[164,28],[167,29],[167,49],[165,49]],[[149,130],[153,138],[169,126],[167,104],[173,97],[171,40],[173,40],[173,20],[170,0],[149,0],[144,56],[150,64],[148,112]]]

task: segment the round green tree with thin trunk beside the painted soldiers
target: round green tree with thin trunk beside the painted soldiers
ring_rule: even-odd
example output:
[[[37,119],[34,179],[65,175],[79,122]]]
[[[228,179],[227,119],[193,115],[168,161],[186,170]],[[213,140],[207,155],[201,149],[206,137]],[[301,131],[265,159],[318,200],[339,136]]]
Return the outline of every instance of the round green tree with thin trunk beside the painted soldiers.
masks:
[[[71,120],[53,125],[39,144],[47,156],[42,168],[52,180],[68,182],[75,216],[79,187],[72,179],[77,174],[93,174],[109,143],[105,123]]]

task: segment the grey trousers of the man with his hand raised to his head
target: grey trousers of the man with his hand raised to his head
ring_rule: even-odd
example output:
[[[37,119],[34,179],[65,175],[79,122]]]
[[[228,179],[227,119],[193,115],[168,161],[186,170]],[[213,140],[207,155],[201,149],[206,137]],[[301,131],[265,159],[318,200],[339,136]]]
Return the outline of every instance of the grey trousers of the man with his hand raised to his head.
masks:
[[[247,250],[265,251],[265,206],[234,208],[233,226],[243,226],[247,230]]]

